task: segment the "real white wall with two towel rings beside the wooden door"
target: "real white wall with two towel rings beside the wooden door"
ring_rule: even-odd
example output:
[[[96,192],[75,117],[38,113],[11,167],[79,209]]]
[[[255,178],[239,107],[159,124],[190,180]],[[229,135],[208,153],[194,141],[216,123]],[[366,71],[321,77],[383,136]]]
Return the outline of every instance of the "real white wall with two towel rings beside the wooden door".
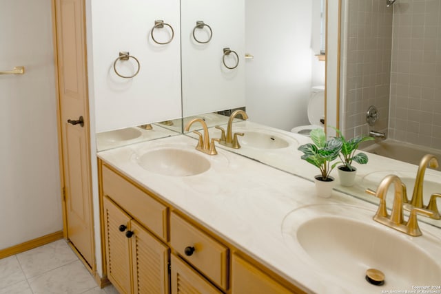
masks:
[[[96,132],[144,123],[181,118],[181,25],[178,0],[90,1],[93,87]],[[166,45],[154,43],[151,31],[156,20],[172,26],[174,39]],[[156,28],[154,37],[165,43],[172,30]],[[130,52],[139,60],[134,78],[114,72],[119,52]],[[132,76],[136,61],[119,61],[116,69]],[[160,110],[160,111],[158,111]]]

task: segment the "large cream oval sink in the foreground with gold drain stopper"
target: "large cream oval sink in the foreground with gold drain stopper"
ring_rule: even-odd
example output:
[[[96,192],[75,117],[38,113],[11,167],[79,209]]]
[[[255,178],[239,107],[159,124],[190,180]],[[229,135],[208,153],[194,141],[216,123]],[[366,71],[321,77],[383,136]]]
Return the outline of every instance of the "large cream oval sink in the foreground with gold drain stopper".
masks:
[[[316,264],[332,280],[367,293],[439,284],[440,261],[425,248],[439,246],[440,240],[434,240],[433,235],[424,237],[424,233],[411,238],[382,227],[372,220],[374,213],[349,205],[312,205],[289,213],[283,235],[289,246],[304,252],[303,257],[309,259],[306,262]],[[369,284],[365,278],[368,269],[382,271],[384,285]]]

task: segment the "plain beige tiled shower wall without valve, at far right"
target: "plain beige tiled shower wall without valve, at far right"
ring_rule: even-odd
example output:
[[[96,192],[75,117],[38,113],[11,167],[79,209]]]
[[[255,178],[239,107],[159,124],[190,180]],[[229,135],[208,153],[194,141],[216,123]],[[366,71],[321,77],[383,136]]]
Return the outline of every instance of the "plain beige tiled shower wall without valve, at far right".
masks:
[[[441,1],[394,6],[389,134],[441,149]]]

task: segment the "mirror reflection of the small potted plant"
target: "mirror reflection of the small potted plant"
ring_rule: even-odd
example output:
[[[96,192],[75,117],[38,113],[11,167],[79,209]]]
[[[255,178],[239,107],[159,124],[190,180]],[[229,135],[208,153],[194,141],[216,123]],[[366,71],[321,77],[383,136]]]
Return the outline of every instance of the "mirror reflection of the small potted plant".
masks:
[[[356,167],[352,166],[352,162],[355,161],[360,165],[365,165],[369,160],[367,155],[362,152],[356,154],[358,145],[360,145],[362,142],[373,140],[373,138],[368,136],[356,136],[346,140],[340,130],[335,130],[338,134],[336,139],[340,140],[342,143],[342,149],[340,150],[340,154],[338,154],[340,162],[342,163],[342,165],[338,167],[338,178],[340,178],[340,185],[352,187],[357,173],[357,169]]]

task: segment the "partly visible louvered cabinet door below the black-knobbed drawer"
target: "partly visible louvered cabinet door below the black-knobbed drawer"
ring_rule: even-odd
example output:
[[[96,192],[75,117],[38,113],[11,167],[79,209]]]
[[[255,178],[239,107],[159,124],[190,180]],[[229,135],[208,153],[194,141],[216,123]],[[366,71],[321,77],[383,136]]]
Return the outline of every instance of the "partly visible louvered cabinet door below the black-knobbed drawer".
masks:
[[[222,294],[173,254],[170,260],[172,262],[172,294]]]

